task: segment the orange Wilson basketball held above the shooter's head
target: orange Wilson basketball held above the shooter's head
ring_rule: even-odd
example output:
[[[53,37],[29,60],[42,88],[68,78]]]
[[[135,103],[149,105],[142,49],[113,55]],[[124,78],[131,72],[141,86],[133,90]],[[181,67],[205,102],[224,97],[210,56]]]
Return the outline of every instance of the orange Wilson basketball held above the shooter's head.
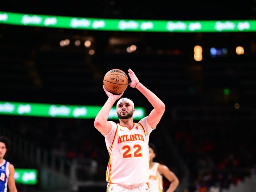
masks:
[[[122,93],[128,86],[128,77],[120,69],[112,69],[106,73],[103,85],[108,92],[113,94]]]

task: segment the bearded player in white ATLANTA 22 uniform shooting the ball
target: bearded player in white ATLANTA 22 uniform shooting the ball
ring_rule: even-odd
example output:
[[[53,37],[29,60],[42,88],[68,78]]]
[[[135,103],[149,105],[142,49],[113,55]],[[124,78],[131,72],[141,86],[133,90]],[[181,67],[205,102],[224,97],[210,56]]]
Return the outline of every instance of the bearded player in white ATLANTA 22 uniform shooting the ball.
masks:
[[[108,100],[96,116],[94,126],[105,136],[110,156],[106,173],[107,192],[149,192],[145,183],[149,178],[148,139],[165,110],[164,103],[139,82],[131,69],[128,70],[128,74],[132,81],[129,85],[138,89],[154,109],[139,123],[134,123],[133,101],[128,98],[120,99],[124,92],[113,95],[103,86]],[[108,121],[109,111],[116,100],[118,124]]]

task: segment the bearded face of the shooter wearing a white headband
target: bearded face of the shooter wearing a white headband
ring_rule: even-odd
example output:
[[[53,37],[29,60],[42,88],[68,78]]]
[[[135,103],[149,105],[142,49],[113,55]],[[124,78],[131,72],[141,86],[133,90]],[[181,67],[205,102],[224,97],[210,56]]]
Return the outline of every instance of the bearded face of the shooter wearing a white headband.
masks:
[[[134,108],[128,102],[121,102],[116,108],[116,113],[119,119],[129,119],[134,113]]]

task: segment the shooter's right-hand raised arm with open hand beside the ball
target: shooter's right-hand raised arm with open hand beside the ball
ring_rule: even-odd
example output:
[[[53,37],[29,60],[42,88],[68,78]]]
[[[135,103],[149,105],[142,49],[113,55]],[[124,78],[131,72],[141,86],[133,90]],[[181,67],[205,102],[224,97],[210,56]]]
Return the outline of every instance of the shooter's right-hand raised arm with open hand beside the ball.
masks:
[[[128,74],[132,80],[129,85],[133,88],[137,88],[149,101],[149,103],[154,107],[154,109],[150,112],[148,115],[148,124],[151,127],[155,127],[161,117],[164,114],[165,105],[162,100],[160,100],[153,92],[151,92],[148,88],[146,88],[143,84],[140,83],[137,76],[134,74],[134,72],[129,69]]]

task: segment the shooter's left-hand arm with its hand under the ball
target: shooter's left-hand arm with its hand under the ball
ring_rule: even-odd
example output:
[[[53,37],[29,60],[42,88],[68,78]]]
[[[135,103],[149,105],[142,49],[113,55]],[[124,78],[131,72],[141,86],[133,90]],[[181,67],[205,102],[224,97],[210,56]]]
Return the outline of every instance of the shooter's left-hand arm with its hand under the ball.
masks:
[[[108,95],[108,100],[103,105],[103,107],[100,109],[98,115],[96,116],[94,120],[94,126],[98,131],[106,135],[111,130],[111,124],[108,122],[108,115],[110,112],[110,109],[114,105],[117,99],[119,99],[124,92],[122,92],[119,95],[113,95],[112,93],[108,92],[105,87],[103,86],[104,91]]]

